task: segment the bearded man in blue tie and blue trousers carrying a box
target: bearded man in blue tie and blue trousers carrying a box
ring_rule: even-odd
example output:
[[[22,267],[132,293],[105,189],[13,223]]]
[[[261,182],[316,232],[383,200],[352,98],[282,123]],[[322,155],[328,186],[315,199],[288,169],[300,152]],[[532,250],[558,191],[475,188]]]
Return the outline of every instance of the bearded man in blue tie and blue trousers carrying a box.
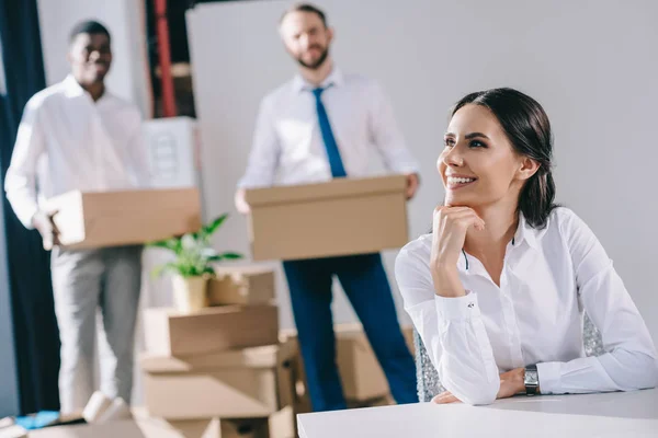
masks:
[[[299,72],[261,103],[249,163],[236,193],[238,210],[249,212],[246,188],[367,176],[373,149],[388,170],[407,175],[411,198],[419,185],[418,164],[405,146],[390,103],[375,81],[344,74],[333,65],[329,55],[333,30],[325,13],[311,4],[297,4],[283,14],[280,34]],[[381,255],[287,261],[283,267],[314,411],[345,407],[336,367],[333,276],[363,324],[392,395],[398,403],[417,402],[416,368]]]

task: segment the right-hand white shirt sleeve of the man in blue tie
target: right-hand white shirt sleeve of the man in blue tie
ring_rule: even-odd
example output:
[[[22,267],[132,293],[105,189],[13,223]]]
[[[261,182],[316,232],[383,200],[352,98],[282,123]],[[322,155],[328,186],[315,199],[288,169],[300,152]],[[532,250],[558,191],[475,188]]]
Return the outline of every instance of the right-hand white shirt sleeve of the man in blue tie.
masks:
[[[390,100],[377,83],[371,94],[370,135],[386,168],[396,173],[418,173],[418,162],[405,143]]]

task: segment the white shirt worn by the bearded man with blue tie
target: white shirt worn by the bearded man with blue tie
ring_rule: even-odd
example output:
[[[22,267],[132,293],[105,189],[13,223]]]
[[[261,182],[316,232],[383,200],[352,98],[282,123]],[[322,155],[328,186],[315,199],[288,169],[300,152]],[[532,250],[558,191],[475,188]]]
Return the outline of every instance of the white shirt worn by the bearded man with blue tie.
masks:
[[[324,81],[322,103],[348,176],[368,174],[376,149],[386,168],[416,173],[393,108],[376,82],[334,68]],[[314,85],[295,77],[261,102],[253,147],[239,187],[307,184],[331,180],[322,141]]]

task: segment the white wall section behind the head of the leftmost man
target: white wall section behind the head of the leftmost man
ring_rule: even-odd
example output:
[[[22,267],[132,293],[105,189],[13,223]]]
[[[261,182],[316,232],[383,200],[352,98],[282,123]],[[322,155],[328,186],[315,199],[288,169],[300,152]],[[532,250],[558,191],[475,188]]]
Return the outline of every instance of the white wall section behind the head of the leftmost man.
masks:
[[[144,0],[38,0],[37,4],[46,83],[59,82],[70,72],[66,54],[71,28],[82,20],[98,20],[112,35],[109,89],[150,118]]]

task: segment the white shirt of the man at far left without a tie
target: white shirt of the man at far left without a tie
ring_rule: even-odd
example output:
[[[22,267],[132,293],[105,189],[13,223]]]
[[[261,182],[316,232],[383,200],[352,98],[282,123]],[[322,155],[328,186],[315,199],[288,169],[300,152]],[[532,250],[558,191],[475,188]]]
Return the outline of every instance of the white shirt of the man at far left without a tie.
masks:
[[[149,181],[135,105],[106,90],[94,103],[70,76],[27,102],[4,181],[25,227],[52,196],[146,187]]]

